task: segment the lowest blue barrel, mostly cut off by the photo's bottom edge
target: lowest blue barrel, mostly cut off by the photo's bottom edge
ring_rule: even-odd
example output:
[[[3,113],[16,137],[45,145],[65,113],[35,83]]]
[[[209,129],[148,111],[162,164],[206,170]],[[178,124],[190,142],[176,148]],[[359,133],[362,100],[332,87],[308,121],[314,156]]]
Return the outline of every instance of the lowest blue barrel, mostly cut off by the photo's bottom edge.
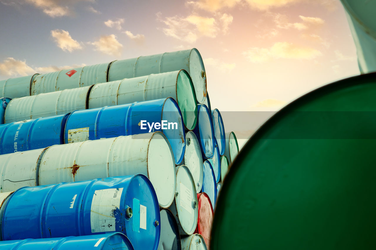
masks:
[[[134,250],[121,233],[0,241],[2,250],[113,250],[114,246],[118,250]]]

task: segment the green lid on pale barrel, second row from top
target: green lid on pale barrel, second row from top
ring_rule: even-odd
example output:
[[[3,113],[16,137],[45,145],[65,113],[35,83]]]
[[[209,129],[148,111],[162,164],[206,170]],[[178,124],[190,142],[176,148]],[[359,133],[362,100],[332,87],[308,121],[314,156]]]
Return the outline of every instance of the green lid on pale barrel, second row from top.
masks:
[[[185,70],[179,71],[176,81],[177,104],[182,112],[186,129],[192,130],[197,122],[197,98],[193,82]]]

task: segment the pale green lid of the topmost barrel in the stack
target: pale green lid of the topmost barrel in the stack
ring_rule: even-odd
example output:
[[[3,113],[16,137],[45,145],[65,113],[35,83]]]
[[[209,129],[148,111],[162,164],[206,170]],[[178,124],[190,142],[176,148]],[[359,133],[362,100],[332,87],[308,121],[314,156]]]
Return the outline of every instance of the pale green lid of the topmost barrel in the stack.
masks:
[[[203,103],[206,97],[206,72],[200,52],[193,48],[189,57],[189,72],[196,91],[197,101]]]

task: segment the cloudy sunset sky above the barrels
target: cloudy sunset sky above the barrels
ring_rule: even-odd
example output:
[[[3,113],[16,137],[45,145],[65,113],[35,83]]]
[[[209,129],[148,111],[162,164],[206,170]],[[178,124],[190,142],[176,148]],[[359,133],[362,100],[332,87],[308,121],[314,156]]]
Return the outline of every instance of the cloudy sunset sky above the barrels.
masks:
[[[297,97],[359,74],[339,0],[0,0],[0,32],[0,80],[197,48],[240,145]]]

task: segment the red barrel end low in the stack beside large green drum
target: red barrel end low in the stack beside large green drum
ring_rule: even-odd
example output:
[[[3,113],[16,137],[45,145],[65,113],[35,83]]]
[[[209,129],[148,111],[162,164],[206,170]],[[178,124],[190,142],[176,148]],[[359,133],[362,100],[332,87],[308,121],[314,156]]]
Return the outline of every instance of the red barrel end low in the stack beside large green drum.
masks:
[[[209,196],[206,193],[198,193],[199,201],[199,219],[197,220],[196,234],[201,234],[205,240],[206,246],[210,247],[210,231],[213,222],[213,207]]]

